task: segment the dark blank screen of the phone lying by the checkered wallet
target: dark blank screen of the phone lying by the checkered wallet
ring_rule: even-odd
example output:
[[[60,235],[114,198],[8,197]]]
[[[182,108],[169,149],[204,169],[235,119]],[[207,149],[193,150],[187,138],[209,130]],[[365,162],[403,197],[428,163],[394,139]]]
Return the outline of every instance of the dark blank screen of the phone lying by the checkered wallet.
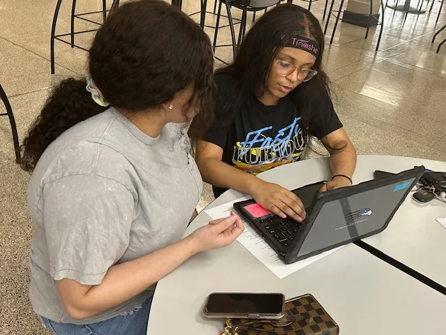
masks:
[[[222,314],[279,314],[284,296],[277,293],[213,293],[205,311]]]

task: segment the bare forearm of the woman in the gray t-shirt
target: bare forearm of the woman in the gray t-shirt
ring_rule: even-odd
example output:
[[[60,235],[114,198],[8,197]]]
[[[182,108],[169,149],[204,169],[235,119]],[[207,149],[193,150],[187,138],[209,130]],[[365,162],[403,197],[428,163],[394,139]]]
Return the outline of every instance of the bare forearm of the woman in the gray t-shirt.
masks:
[[[68,313],[83,319],[118,306],[144,292],[197,252],[192,239],[185,238],[136,260],[114,265],[100,285],[91,286],[76,303],[66,306],[71,309]]]

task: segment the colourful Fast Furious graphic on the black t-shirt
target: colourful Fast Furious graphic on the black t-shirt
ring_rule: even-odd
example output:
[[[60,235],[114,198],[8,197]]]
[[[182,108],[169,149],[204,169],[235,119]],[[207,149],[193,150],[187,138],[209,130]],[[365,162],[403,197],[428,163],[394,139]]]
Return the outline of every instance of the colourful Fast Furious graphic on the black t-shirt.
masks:
[[[300,128],[300,117],[277,131],[274,138],[266,136],[272,126],[249,131],[245,140],[234,146],[232,162],[236,168],[258,174],[279,165],[298,161],[305,149],[305,138]]]

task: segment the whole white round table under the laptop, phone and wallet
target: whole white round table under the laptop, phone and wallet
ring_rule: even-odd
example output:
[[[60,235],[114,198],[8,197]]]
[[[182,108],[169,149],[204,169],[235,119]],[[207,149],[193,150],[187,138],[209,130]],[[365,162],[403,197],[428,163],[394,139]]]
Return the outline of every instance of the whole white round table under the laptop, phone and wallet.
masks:
[[[374,170],[399,172],[414,165],[446,171],[442,162],[358,156],[353,181],[357,184],[372,179]],[[259,177],[294,189],[328,179],[330,170],[328,159],[318,158],[283,165]],[[209,207],[242,196],[227,191]],[[409,267],[443,282],[446,230],[435,221],[440,217],[446,217],[446,204],[432,202],[431,207],[417,207],[408,197],[387,230],[364,241],[395,253],[401,262],[410,263],[406,264]],[[208,221],[210,217],[202,211],[185,235]],[[195,255],[157,284],[147,334],[219,334],[223,320],[202,316],[204,301],[212,292],[283,292],[286,298],[311,293],[339,324],[341,335],[443,334],[446,329],[445,295],[355,244],[279,279],[235,242]]]

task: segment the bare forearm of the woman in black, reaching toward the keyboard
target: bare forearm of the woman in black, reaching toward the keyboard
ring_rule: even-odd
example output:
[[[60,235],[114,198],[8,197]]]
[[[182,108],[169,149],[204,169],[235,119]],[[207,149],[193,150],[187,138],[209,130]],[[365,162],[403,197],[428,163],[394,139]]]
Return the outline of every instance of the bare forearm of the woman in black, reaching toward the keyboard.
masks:
[[[232,188],[243,193],[252,193],[252,189],[260,179],[243,172],[216,158],[203,158],[199,162],[203,180],[213,186]]]

